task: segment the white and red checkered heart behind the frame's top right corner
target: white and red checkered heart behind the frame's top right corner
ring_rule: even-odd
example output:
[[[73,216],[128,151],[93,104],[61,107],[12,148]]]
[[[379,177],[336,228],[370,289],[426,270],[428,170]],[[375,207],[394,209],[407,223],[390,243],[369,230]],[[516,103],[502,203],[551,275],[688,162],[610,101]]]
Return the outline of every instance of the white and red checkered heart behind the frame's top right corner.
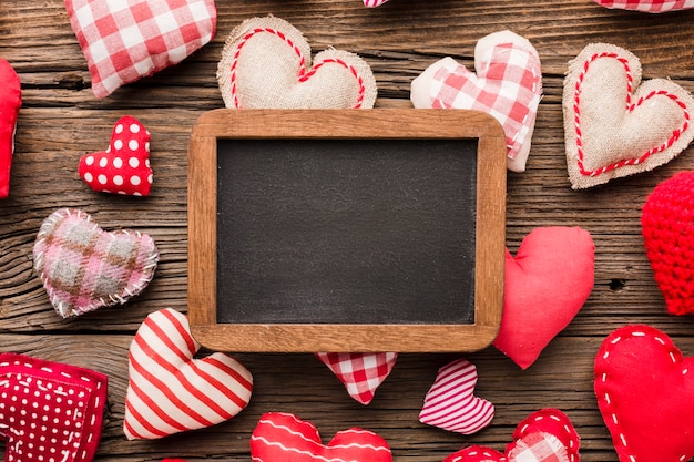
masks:
[[[493,115],[506,133],[508,168],[523,172],[542,96],[538,51],[513,32],[496,32],[474,47],[474,69],[477,75],[452,58],[431,64],[412,81],[412,104]]]

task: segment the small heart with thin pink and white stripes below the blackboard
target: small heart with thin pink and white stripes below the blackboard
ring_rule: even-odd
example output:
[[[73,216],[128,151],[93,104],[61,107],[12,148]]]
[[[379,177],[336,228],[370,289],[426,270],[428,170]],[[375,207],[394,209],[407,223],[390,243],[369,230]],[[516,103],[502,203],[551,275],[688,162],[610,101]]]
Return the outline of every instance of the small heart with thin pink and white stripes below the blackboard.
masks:
[[[472,434],[489,425],[494,405],[474,396],[477,368],[465,358],[441,369],[425,397],[419,421],[456,433]]]

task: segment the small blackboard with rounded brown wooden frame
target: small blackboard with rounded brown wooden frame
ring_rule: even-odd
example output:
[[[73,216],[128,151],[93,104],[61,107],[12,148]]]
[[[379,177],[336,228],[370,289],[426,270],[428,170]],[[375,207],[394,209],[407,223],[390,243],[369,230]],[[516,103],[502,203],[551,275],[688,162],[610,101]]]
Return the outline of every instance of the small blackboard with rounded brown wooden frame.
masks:
[[[506,147],[468,111],[205,114],[188,315],[226,351],[471,351],[501,317]]]

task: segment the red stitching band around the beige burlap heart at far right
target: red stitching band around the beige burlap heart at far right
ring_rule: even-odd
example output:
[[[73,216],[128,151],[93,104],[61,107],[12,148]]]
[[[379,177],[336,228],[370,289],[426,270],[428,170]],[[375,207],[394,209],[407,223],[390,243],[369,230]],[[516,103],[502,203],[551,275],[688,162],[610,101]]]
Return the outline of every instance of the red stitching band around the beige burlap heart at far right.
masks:
[[[682,113],[684,115],[684,123],[682,124],[680,129],[676,129],[672,132],[672,135],[670,136],[670,138],[667,138],[667,141],[665,141],[660,146],[652,147],[651,150],[643,153],[641,156],[634,157],[634,158],[626,158],[626,160],[619,161],[610,165],[605,165],[596,170],[589,171],[589,170],[585,170],[585,166],[583,164],[584,153],[583,153],[583,142],[581,138],[582,132],[581,132],[581,109],[580,109],[581,84],[583,83],[583,80],[585,79],[585,74],[588,73],[590,65],[601,58],[612,58],[612,59],[618,60],[619,62],[622,63],[622,65],[624,66],[624,70],[626,71],[626,111],[627,112],[634,111],[636,107],[639,107],[641,104],[643,104],[645,101],[650,100],[651,97],[666,96],[673,100],[682,109]],[[651,155],[663,152],[666,148],[671,147],[680,138],[682,133],[684,133],[687,130],[690,125],[690,112],[687,110],[686,104],[684,104],[677,97],[676,94],[670,93],[669,91],[665,91],[665,90],[652,91],[647,95],[640,97],[637,102],[632,103],[632,90],[633,90],[632,85],[633,85],[633,76],[631,73],[629,61],[625,58],[622,58],[616,53],[612,53],[612,52],[595,53],[591,58],[585,60],[585,62],[583,63],[583,70],[581,71],[581,74],[579,75],[579,80],[576,81],[575,93],[574,93],[574,99],[573,99],[573,112],[574,112],[576,147],[578,147],[578,164],[579,164],[579,170],[582,175],[598,176],[605,172],[610,172],[615,168],[623,167],[625,165],[637,165],[644,162]]]

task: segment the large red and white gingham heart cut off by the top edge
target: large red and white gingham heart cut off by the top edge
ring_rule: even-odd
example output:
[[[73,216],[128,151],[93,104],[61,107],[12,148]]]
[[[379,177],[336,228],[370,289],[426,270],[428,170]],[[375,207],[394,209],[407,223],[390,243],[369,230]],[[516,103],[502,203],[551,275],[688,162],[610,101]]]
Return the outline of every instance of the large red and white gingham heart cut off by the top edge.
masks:
[[[96,97],[191,55],[212,40],[214,0],[65,0]]]

